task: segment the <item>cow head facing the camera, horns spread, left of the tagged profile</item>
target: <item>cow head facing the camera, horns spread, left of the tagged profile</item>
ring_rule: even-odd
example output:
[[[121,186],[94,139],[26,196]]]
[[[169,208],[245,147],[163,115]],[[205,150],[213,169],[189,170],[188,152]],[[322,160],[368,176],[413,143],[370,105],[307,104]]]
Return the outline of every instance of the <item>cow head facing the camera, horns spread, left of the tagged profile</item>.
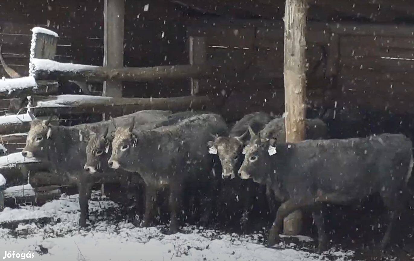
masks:
[[[217,150],[217,155],[221,162],[223,172],[221,178],[231,177],[234,178],[234,172],[237,171],[236,167],[240,161],[239,157],[242,157],[243,138],[247,132],[239,137],[215,137],[214,140],[208,142],[209,149]]]

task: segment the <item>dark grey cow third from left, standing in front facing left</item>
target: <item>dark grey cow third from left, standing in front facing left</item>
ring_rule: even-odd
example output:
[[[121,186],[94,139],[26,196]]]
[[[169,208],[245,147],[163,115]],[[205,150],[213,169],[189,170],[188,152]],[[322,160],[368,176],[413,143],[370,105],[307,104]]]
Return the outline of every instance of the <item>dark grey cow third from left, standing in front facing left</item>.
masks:
[[[145,182],[145,213],[143,225],[148,226],[156,191],[168,187],[170,233],[178,232],[178,214],[182,192],[187,185],[193,189],[209,189],[213,157],[206,149],[211,135],[223,135],[227,126],[217,114],[201,114],[177,124],[153,130],[136,130],[133,126],[116,128],[112,154],[108,161],[113,169],[137,172]],[[210,188],[209,188],[210,187]],[[211,206],[211,204],[208,204]],[[202,222],[207,222],[210,210]]]

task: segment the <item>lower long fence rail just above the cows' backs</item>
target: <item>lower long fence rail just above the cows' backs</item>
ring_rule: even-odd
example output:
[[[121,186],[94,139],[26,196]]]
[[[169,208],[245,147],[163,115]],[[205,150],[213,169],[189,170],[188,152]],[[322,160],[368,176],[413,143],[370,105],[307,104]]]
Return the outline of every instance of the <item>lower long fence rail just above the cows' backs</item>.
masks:
[[[223,104],[221,97],[184,96],[171,98],[111,98],[89,95],[33,97],[35,116],[69,113],[108,113],[123,115],[140,110],[202,110],[215,111]]]

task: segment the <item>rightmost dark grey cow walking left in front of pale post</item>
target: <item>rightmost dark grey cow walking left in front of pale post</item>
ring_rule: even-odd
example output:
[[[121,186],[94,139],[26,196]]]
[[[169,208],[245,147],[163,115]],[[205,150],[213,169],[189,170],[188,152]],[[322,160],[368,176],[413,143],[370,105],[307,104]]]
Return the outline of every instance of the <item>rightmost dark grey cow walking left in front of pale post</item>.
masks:
[[[246,147],[238,174],[241,179],[269,185],[284,202],[269,232],[269,246],[279,239],[278,232],[287,215],[310,208],[318,228],[318,250],[323,251],[328,242],[322,205],[350,204],[377,192],[390,210],[390,222],[380,244],[384,248],[407,200],[412,166],[412,143],[402,134],[305,140],[296,144],[262,142],[259,134]]]

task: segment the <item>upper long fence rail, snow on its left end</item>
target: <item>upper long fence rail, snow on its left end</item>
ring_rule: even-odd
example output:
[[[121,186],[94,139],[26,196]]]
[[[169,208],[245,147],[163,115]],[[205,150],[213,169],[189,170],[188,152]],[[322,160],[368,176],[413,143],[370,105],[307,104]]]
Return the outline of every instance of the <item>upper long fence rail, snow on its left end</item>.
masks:
[[[80,80],[103,82],[108,79],[131,82],[147,82],[165,79],[197,78],[211,75],[213,68],[208,65],[168,65],[147,68],[116,68],[59,63],[47,59],[31,60],[31,75],[36,80]]]

